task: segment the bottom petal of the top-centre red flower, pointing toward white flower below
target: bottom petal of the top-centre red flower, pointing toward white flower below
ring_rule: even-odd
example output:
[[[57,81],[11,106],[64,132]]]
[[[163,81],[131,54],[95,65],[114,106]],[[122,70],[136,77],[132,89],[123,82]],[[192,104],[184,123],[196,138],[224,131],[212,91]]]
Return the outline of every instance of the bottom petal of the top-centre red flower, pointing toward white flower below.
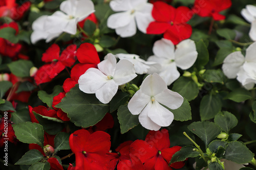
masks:
[[[192,27],[188,24],[173,25],[163,35],[164,38],[171,40],[175,45],[187,39],[192,34]]]

